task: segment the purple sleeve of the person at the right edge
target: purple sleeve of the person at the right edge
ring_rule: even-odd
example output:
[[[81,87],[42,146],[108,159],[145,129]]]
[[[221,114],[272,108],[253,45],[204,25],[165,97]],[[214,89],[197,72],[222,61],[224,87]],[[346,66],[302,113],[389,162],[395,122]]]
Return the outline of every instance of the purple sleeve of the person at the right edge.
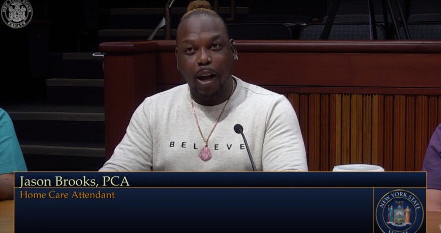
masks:
[[[422,170],[427,171],[427,188],[441,190],[441,124],[430,138]]]

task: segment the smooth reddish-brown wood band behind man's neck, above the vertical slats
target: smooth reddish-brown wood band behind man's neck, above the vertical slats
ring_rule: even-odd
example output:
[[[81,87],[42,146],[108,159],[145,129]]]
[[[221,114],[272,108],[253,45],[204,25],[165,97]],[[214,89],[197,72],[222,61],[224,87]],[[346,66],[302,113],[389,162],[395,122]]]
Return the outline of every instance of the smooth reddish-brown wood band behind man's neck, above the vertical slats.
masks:
[[[176,67],[173,53],[164,52],[159,59],[159,84],[184,82],[176,69],[170,69]],[[431,88],[438,80],[430,77],[438,78],[439,70],[427,64],[435,59],[438,54],[241,53],[235,75],[260,86]],[[428,76],[415,79],[421,69]]]

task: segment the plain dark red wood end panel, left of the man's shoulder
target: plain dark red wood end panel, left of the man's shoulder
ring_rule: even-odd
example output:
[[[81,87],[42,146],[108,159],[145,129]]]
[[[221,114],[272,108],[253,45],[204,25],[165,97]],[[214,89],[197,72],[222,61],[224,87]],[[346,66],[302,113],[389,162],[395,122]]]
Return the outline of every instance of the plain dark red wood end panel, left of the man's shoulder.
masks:
[[[126,133],[135,109],[144,98],[156,92],[155,66],[145,66],[145,63],[155,65],[155,61],[154,53],[105,56],[104,110],[107,158],[110,158]]]

